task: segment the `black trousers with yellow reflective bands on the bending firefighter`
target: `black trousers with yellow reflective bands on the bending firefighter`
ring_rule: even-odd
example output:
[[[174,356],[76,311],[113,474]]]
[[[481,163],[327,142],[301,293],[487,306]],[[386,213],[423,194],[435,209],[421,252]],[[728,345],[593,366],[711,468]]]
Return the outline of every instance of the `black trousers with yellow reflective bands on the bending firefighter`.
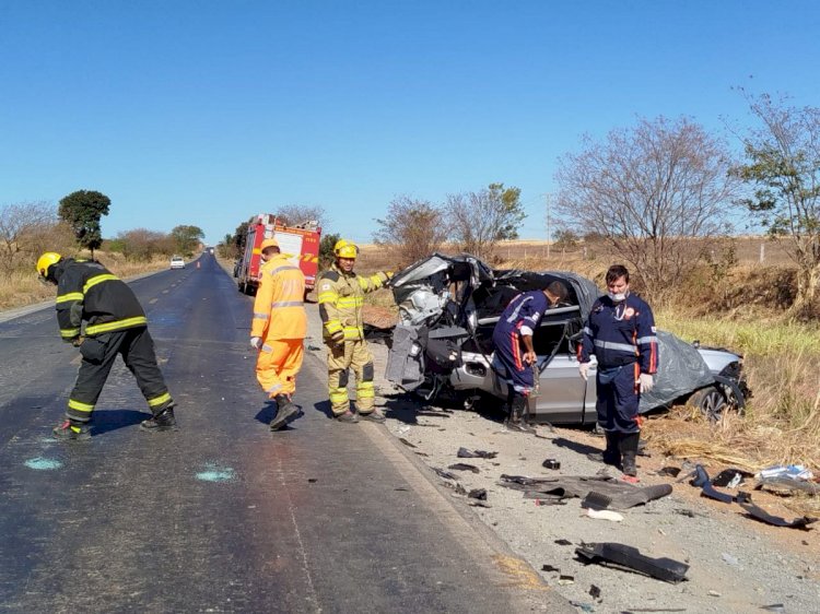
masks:
[[[173,404],[156,364],[154,342],[148,328],[132,328],[86,338],[80,346],[80,371],[66,410],[66,415],[72,421],[91,420],[117,355],[122,356],[126,366],[137,378],[137,386],[154,415]]]

